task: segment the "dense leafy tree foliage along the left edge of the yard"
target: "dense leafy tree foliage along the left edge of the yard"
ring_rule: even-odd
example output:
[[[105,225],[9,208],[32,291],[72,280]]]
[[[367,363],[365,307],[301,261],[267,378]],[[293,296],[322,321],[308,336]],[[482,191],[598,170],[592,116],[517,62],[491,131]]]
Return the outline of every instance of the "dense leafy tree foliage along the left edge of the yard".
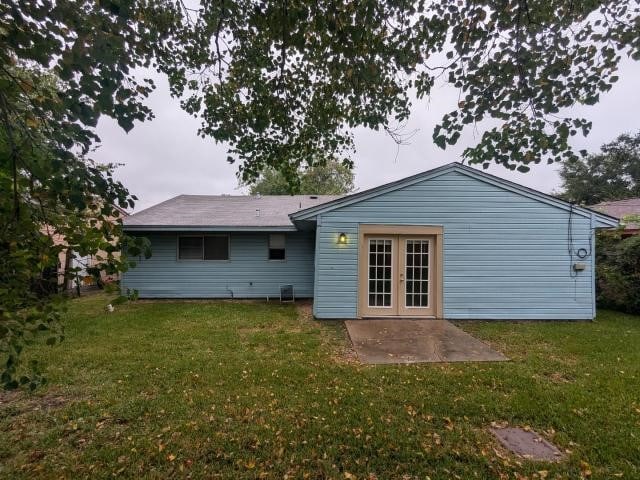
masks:
[[[135,197],[114,165],[88,158],[102,114],[129,129],[150,117],[138,84],[143,34],[134,10],[109,2],[25,1],[0,5],[0,384],[34,388],[42,379],[20,365],[37,333],[62,339],[58,255],[97,260],[95,270],[125,270],[116,206]],[[148,253],[148,252],[146,252]],[[75,275],[68,268],[63,276]]]

